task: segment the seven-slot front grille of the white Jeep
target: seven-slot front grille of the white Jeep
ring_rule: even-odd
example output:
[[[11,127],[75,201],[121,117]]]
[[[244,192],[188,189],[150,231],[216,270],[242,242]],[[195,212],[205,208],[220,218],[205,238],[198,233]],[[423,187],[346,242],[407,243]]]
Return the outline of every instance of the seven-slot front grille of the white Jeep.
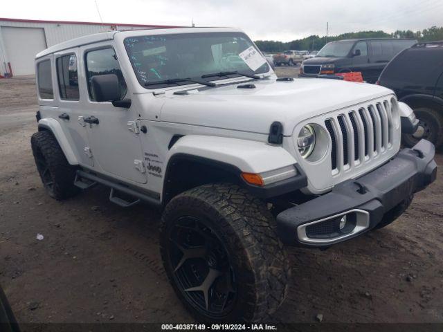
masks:
[[[392,146],[394,127],[388,100],[327,118],[325,127],[332,142],[332,174],[375,158]]]

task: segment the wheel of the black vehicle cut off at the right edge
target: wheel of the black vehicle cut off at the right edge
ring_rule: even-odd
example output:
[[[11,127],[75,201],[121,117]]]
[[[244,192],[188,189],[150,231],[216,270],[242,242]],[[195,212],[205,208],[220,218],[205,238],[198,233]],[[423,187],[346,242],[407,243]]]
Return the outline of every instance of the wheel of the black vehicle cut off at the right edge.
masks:
[[[415,116],[419,119],[420,124],[424,127],[423,138],[432,142],[435,148],[439,148],[443,144],[443,116],[435,109],[428,107],[418,107],[414,109]],[[421,138],[415,138],[413,134],[404,133],[401,135],[401,142],[406,147],[413,147]]]

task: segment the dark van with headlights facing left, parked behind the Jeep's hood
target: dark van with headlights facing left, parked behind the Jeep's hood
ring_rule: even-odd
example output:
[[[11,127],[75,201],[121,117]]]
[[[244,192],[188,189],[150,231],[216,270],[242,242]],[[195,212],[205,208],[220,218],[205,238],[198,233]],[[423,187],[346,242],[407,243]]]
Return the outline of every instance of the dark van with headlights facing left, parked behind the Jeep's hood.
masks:
[[[302,76],[361,71],[374,83],[390,59],[417,43],[414,39],[346,39],[327,43],[316,57],[302,62]]]

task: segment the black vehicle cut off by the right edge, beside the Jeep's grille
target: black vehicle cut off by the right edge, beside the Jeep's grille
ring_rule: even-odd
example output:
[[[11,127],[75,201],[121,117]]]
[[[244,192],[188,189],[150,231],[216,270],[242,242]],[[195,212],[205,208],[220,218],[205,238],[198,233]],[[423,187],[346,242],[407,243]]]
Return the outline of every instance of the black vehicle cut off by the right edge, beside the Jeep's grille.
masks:
[[[416,44],[399,53],[381,73],[379,82],[395,91],[419,119],[417,131],[403,135],[412,147],[426,138],[439,147],[443,143],[443,41]]]

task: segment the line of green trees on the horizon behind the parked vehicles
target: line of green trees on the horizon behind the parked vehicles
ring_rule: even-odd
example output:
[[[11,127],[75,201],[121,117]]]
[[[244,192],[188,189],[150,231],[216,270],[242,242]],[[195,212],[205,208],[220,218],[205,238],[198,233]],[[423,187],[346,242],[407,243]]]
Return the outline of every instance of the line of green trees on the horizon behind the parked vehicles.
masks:
[[[342,39],[353,38],[412,38],[419,42],[435,42],[443,40],[443,26],[433,26],[421,31],[397,30],[395,33],[385,33],[378,31],[360,31],[358,33],[343,33],[338,36],[311,35],[302,39],[296,39],[292,42],[278,42],[275,40],[257,40],[255,44],[260,50],[269,53],[282,52],[283,50],[320,50],[327,42],[334,42]]]

